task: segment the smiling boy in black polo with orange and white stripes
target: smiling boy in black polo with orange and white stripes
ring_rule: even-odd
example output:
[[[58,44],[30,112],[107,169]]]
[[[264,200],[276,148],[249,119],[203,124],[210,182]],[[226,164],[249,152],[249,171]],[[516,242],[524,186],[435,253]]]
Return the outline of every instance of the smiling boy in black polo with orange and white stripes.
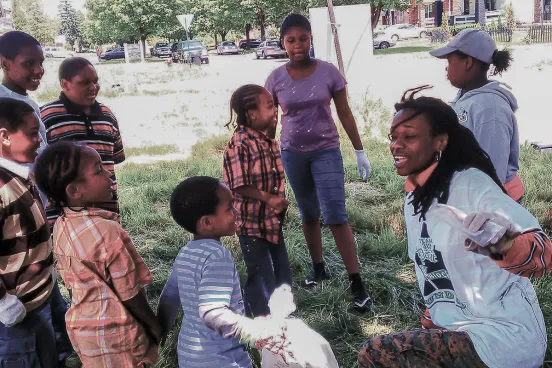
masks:
[[[115,165],[125,160],[119,124],[111,110],[96,101],[100,84],[92,63],[81,57],[65,59],[59,66],[62,92],[59,99],[44,105],[40,116],[46,126],[46,140],[53,144],[62,140],[78,141],[95,149],[102,165],[111,172],[117,189]],[[119,213],[115,191],[113,200],[97,205]],[[59,210],[46,208],[48,222],[53,227]]]

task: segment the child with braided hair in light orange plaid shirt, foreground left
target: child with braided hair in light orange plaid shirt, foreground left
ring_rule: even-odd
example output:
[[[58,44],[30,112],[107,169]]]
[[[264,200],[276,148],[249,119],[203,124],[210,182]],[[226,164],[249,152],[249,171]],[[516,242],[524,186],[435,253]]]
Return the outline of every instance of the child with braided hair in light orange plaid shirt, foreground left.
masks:
[[[113,198],[111,172],[93,148],[62,141],[38,157],[35,176],[61,207],[54,254],[71,295],[65,321],[82,366],[153,366],[161,338],[145,292],[153,278],[119,215],[100,209]]]

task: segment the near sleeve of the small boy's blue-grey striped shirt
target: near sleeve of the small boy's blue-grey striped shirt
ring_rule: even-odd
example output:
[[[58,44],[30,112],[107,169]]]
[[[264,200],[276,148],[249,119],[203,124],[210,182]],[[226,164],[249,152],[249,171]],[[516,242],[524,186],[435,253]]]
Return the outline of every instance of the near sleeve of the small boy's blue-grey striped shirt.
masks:
[[[198,287],[203,323],[225,338],[240,335],[240,320],[244,318],[230,309],[236,272],[234,262],[224,253],[212,254],[203,267]]]

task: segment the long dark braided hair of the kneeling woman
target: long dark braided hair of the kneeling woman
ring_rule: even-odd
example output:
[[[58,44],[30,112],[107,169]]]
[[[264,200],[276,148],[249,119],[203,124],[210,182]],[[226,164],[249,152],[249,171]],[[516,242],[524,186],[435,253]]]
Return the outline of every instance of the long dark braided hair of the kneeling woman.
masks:
[[[429,177],[424,186],[416,187],[410,204],[414,213],[424,217],[435,199],[439,203],[447,203],[450,182],[456,172],[470,168],[478,169],[487,174],[505,192],[504,187],[489,155],[481,148],[473,133],[458,122],[458,116],[452,107],[440,99],[433,97],[418,97],[416,95],[431,86],[421,86],[407,90],[401,102],[395,105],[395,110],[409,109],[414,114],[400,124],[424,115],[430,126],[430,134],[435,137],[446,134],[448,144],[441,153],[439,165]],[[393,127],[395,130],[399,125]]]

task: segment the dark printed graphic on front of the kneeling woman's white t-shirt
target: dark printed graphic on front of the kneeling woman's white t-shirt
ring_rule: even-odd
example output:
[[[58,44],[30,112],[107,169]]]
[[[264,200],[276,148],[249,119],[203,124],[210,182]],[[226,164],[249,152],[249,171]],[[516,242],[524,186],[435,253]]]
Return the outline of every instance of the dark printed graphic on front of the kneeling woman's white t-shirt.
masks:
[[[428,308],[436,303],[457,303],[454,286],[445,267],[443,256],[435,249],[425,221],[422,224],[422,233],[416,250],[416,266],[425,279],[422,294]]]

